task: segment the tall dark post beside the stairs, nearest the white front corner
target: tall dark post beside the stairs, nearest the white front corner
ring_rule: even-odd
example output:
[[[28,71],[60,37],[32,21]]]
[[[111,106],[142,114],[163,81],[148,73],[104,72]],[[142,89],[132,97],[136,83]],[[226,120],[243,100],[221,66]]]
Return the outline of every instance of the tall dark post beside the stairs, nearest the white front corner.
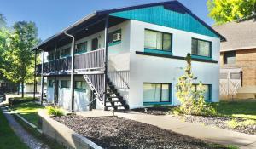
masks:
[[[104,110],[107,110],[106,100],[107,100],[107,79],[108,79],[108,19],[109,15],[107,14],[105,20],[105,61],[104,61]]]

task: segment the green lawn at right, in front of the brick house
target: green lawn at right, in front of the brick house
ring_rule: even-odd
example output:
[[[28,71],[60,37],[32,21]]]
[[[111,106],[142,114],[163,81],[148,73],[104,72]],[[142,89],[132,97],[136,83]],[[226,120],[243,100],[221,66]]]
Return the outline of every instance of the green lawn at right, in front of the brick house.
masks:
[[[211,104],[220,116],[256,120],[256,101],[221,101]]]

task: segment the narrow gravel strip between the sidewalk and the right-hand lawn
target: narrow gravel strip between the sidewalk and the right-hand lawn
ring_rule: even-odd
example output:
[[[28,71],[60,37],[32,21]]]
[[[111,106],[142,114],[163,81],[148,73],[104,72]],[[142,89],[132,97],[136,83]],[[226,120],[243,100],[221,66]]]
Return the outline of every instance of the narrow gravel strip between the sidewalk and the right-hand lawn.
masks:
[[[227,122],[230,121],[232,118],[230,117],[203,117],[203,116],[186,116],[186,122],[191,123],[203,123],[205,125],[210,125],[213,127],[219,127],[222,129],[231,129],[228,127]],[[238,122],[244,121],[242,118],[237,119]],[[238,126],[235,130],[245,134],[256,135],[256,125],[247,125],[247,126]]]

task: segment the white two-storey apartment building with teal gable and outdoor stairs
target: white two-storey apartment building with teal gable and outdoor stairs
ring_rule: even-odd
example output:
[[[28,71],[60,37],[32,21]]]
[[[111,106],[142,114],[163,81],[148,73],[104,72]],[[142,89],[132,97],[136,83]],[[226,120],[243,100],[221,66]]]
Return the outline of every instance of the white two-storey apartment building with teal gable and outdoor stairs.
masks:
[[[43,75],[49,102],[72,111],[128,109],[178,105],[177,77],[188,53],[195,83],[204,84],[207,101],[217,102],[221,40],[189,9],[170,1],[96,11],[33,50],[48,53]]]

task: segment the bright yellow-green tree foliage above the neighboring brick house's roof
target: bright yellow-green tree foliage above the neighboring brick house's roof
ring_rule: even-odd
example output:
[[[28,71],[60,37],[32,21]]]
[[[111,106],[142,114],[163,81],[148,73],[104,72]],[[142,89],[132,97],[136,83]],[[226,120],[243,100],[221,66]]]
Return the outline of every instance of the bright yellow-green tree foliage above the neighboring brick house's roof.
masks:
[[[208,0],[209,16],[224,24],[256,14],[256,0]]]

